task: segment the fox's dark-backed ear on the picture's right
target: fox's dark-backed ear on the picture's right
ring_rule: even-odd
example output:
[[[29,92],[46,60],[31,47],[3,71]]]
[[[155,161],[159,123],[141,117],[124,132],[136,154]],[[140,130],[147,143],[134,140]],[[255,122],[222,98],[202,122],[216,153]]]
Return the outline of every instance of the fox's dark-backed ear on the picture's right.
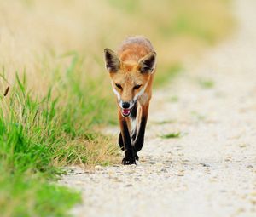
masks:
[[[152,52],[139,60],[139,69],[142,73],[152,73],[156,65],[156,53]]]

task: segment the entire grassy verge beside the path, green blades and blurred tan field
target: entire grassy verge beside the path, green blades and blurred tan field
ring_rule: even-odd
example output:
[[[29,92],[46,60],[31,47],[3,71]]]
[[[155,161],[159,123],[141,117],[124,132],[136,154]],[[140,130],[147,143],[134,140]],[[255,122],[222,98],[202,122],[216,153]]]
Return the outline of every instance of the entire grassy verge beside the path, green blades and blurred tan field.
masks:
[[[65,216],[80,196],[56,186],[60,167],[117,162],[118,146],[98,130],[116,123],[102,50],[128,35],[149,37],[155,83],[166,83],[230,31],[230,1],[190,2],[0,3],[1,216]]]

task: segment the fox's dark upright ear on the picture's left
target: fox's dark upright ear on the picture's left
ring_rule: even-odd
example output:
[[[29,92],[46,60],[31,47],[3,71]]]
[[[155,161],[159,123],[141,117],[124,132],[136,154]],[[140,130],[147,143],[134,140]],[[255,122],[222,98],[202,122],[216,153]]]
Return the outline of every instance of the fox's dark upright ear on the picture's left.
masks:
[[[109,72],[119,71],[120,60],[111,49],[104,49],[106,68]]]

